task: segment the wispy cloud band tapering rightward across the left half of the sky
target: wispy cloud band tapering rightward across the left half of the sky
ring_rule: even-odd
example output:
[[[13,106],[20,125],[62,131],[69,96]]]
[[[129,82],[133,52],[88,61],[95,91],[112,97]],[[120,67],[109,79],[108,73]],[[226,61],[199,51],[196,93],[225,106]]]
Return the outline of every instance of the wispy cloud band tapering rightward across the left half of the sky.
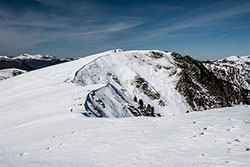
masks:
[[[17,17],[5,9],[0,10],[0,15],[3,17],[0,20],[0,50],[1,54],[7,55],[44,42],[88,43],[143,23],[137,18],[110,18],[107,22],[99,22],[105,15],[98,18],[88,15],[79,19],[39,11],[26,11]]]

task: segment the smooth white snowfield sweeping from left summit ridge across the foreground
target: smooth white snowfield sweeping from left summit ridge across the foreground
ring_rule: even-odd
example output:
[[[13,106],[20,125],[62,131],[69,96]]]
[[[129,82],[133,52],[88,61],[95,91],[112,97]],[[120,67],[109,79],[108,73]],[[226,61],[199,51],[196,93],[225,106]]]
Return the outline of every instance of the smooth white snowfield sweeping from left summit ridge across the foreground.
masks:
[[[250,107],[161,118],[85,118],[100,85],[70,81],[112,52],[0,82],[0,166],[250,166]],[[72,112],[71,112],[72,109]]]

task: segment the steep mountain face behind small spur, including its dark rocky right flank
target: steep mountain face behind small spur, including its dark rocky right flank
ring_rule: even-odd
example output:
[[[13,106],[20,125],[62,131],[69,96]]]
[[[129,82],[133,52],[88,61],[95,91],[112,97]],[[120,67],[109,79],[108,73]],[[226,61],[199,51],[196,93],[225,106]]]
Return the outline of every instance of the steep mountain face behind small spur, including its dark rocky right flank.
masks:
[[[77,71],[73,82],[81,86],[109,83],[160,115],[250,103],[248,90],[217,75],[201,62],[175,52],[128,51],[88,63]]]

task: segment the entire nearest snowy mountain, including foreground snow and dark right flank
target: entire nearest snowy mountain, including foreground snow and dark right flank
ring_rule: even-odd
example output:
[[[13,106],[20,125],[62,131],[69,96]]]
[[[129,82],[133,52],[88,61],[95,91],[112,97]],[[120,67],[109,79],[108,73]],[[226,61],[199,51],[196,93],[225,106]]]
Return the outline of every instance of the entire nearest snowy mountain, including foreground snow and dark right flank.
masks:
[[[91,55],[0,82],[0,166],[247,167],[242,104],[247,89],[188,56]]]

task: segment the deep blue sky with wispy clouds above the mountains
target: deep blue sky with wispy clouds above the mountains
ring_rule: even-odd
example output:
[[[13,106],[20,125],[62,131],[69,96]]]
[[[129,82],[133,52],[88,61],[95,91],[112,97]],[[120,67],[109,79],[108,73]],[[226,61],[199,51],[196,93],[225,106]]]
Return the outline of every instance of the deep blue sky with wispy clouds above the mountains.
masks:
[[[250,55],[249,0],[0,0],[0,55],[160,49]]]

